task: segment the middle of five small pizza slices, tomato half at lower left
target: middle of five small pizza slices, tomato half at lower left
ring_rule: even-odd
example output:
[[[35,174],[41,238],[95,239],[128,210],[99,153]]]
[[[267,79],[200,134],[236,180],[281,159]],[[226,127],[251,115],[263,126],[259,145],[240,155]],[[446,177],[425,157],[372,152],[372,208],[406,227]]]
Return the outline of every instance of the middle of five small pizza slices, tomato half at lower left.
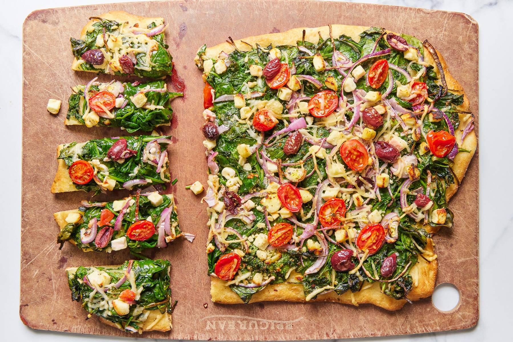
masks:
[[[140,188],[170,182],[170,136],[92,139],[57,147],[52,193]]]

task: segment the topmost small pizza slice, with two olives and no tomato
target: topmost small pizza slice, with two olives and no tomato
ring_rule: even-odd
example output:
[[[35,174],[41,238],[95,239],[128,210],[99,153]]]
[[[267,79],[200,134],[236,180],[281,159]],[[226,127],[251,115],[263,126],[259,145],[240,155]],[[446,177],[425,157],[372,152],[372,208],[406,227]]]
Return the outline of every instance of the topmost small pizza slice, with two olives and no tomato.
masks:
[[[171,75],[164,18],[111,11],[90,21],[80,39],[71,38],[72,70],[161,78]]]

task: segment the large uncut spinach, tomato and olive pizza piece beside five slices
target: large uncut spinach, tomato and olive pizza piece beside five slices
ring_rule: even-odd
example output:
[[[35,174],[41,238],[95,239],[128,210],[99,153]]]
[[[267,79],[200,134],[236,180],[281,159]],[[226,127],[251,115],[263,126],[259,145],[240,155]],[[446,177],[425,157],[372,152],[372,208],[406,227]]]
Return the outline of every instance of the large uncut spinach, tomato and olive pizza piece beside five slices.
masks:
[[[431,295],[432,235],[476,150],[462,86],[427,42],[299,28],[200,48],[212,300]]]

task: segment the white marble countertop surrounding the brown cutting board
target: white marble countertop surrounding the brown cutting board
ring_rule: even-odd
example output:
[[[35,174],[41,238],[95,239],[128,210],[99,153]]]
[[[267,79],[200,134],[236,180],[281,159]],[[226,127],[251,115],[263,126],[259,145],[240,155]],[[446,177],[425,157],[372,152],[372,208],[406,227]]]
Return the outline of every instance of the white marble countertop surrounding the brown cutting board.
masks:
[[[0,134],[3,147],[0,179],[4,195],[0,197],[2,235],[6,242],[0,248],[0,289],[3,310],[0,322],[2,340],[8,341],[93,341],[127,340],[68,333],[32,330],[19,319],[19,241],[21,221],[21,139],[22,139],[22,25],[32,11],[43,8],[97,4],[109,0],[26,0],[3,1],[0,41],[0,65],[4,73],[0,82]],[[113,2],[125,2],[130,0]],[[464,12],[479,24],[480,35],[480,317],[475,328],[440,333],[369,338],[366,340],[411,341],[481,341],[510,340],[513,272],[509,269],[509,246],[513,239],[513,210],[508,195],[513,190],[509,172],[513,115],[508,100],[513,68],[508,59],[513,55],[511,39],[512,0],[359,0],[364,3],[412,6]],[[500,56],[500,57],[499,57]],[[491,62],[491,63],[490,63]],[[494,95],[495,94],[495,95]],[[508,95],[509,94],[509,95]],[[500,100],[496,102],[495,100]],[[499,105],[497,105],[499,103]],[[504,105],[503,105],[504,104]],[[494,122],[496,124],[494,124]],[[45,172],[34,166],[34,172]],[[506,174],[505,177],[501,177]],[[498,191],[499,190],[499,191]],[[469,213],[472,215],[472,213]],[[369,322],[370,324],[370,322]],[[393,324],[391,322],[391,324]],[[363,339],[359,339],[363,340]]]

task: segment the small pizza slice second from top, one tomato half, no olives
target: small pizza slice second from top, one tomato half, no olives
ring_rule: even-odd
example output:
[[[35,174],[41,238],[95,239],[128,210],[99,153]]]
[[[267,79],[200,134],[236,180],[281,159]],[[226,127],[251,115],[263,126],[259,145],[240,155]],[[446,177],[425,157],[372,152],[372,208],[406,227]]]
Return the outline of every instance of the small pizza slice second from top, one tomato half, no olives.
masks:
[[[183,96],[183,93],[168,92],[165,81],[102,83],[96,79],[85,86],[72,88],[65,125],[122,127],[129,133],[149,132],[170,125],[173,110],[169,102]]]

